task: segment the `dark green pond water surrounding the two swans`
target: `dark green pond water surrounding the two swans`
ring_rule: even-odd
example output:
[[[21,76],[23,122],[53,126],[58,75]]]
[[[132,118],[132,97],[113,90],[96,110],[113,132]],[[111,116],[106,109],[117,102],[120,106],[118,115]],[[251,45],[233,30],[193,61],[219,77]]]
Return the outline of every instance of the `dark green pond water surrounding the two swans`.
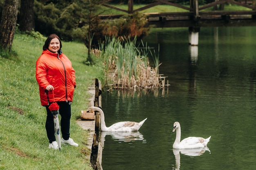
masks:
[[[191,48],[187,28],[153,29],[144,42],[159,44],[170,86],[104,89],[106,126],[148,119],[136,133],[101,133],[103,170],[255,170],[255,40],[256,27],[201,28]],[[209,150],[174,150],[175,121],[181,139],[211,136]]]

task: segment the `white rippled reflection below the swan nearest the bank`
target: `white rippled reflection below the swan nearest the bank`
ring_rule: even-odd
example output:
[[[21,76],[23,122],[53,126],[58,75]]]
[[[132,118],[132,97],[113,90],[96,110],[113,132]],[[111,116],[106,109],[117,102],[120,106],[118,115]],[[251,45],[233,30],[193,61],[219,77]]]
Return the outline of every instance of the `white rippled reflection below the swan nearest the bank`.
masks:
[[[144,139],[143,135],[139,131],[132,132],[100,132],[100,142],[104,144],[106,135],[110,135],[114,141],[118,142],[132,142],[132,141],[142,141],[146,143],[146,139]]]

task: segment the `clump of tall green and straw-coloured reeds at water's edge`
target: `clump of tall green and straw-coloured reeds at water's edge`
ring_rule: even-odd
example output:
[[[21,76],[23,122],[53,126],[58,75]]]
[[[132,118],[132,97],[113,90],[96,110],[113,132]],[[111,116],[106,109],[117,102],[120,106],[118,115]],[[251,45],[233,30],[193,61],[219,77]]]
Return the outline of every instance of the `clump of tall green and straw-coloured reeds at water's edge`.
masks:
[[[104,63],[106,85],[121,89],[164,87],[165,77],[159,74],[159,56],[147,44],[141,41],[136,45],[136,42],[136,38],[106,38],[99,53],[94,53]],[[153,66],[148,56],[153,57]]]

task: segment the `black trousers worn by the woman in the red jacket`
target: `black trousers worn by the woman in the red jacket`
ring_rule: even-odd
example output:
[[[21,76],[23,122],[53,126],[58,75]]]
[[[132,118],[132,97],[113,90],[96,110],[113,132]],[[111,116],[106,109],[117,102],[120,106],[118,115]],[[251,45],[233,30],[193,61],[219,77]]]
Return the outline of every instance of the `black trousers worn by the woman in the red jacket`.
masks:
[[[71,104],[69,102],[57,102],[60,106],[59,114],[61,115],[61,134],[64,140],[69,139],[70,137],[70,118],[71,118]],[[53,115],[49,110],[49,106],[46,106],[47,117],[45,122],[45,129],[49,143],[56,141],[55,132],[54,132],[54,121]]]

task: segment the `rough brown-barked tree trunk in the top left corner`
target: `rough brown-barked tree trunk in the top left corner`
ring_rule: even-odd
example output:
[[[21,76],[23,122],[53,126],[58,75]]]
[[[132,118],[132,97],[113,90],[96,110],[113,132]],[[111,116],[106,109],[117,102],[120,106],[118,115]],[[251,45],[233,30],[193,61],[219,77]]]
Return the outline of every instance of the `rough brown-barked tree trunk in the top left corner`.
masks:
[[[5,0],[0,23],[0,46],[11,50],[18,16],[19,0]]]

